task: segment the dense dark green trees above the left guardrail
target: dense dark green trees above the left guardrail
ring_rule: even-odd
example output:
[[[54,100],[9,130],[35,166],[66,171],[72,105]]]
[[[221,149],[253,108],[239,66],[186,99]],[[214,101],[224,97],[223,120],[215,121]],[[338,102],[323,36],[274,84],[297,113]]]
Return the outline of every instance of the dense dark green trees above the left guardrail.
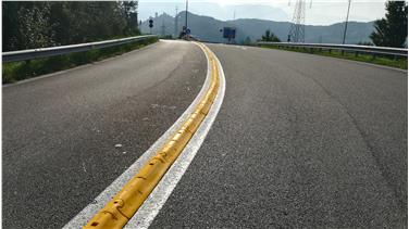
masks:
[[[137,1],[3,1],[3,51],[139,35]]]

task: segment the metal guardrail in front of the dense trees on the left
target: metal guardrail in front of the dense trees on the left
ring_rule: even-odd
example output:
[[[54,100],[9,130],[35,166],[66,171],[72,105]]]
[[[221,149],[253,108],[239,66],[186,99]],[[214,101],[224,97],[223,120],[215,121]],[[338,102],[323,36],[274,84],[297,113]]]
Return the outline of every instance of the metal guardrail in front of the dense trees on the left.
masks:
[[[48,58],[53,55],[62,55],[73,52],[84,52],[92,49],[102,49],[113,46],[121,46],[124,43],[134,42],[137,40],[146,40],[150,38],[158,38],[156,35],[144,35],[136,37],[127,37],[114,40],[104,40],[89,43],[78,43],[70,46],[60,46],[60,47],[50,47],[50,48],[40,48],[40,49],[27,49],[20,51],[3,52],[2,60],[3,62],[13,62],[13,61],[25,61],[37,58]]]

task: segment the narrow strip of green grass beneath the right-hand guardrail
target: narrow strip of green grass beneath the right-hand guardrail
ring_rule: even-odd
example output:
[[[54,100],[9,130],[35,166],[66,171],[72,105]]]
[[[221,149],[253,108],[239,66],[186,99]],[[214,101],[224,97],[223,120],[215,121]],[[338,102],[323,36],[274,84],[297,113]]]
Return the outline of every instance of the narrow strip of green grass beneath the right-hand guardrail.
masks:
[[[262,48],[269,48],[269,49],[280,49],[280,50],[287,50],[287,51],[295,51],[295,52],[302,52],[302,53],[310,53],[310,54],[319,54],[319,55],[325,55],[325,56],[332,56],[332,58],[339,58],[339,59],[346,59],[346,60],[352,60],[352,61],[360,61],[360,62],[367,62],[372,64],[379,64],[379,65],[385,65],[389,67],[396,67],[401,69],[408,69],[408,59],[407,58],[397,58],[393,59],[386,55],[376,55],[375,58],[371,54],[364,54],[359,53],[356,55],[356,53],[352,52],[343,52],[332,50],[331,52],[329,50],[320,50],[320,49],[302,49],[302,48],[277,48],[272,46],[260,46]]]

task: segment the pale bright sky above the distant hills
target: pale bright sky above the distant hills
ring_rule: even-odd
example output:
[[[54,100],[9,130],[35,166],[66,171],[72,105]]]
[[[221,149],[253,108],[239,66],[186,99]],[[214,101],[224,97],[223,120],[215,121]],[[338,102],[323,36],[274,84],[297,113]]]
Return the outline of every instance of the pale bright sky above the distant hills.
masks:
[[[226,21],[233,18],[261,18],[290,22],[297,0],[189,0],[189,11]],[[312,2],[311,2],[312,1]],[[370,22],[385,15],[386,0],[351,0],[350,21]],[[344,22],[348,0],[305,0],[306,24],[331,25]],[[185,0],[140,0],[139,17],[147,20],[165,12],[175,15],[185,10]],[[271,13],[270,13],[271,12]]]

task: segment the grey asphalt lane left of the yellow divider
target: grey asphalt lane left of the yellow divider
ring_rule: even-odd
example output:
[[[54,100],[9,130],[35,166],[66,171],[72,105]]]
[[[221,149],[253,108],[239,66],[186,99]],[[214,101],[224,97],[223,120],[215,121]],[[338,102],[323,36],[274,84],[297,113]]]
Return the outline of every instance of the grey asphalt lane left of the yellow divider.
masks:
[[[3,87],[3,228],[64,226],[179,117],[206,71],[197,46],[161,41]]]

